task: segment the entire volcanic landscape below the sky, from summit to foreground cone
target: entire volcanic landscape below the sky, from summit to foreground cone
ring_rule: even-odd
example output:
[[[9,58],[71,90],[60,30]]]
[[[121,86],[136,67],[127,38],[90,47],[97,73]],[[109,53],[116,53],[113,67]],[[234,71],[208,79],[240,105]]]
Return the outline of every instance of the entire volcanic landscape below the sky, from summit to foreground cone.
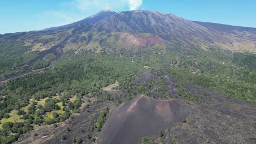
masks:
[[[103,10],[0,35],[0,143],[254,143],[255,32]]]

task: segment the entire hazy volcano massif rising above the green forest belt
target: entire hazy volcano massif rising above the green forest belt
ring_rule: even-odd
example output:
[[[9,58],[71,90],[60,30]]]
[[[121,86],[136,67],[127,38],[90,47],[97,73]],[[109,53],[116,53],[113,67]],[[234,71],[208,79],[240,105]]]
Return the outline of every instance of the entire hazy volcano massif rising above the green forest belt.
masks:
[[[4,34],[0,36],[0,41],[23,40],[24,45],[29,47],[28,51],[39,52],[53,47],[77,52],[132,53],[181,47],[202,47],[205,50],[219,47],[232,52],[256,53],[256,28],[189,21],[152,10],[120,13],[102,10],[82,21],[48,29],[52,31]]]

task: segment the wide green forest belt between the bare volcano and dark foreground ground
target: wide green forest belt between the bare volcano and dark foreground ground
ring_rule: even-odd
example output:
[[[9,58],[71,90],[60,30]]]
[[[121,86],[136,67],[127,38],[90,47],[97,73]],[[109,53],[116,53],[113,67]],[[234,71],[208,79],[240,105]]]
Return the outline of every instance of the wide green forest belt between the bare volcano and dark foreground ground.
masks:
[[[75,54],[69,51],[55,61],[53,68],[47,67],[49,63],[40,59],[31,69],[47,67],[43,73],[25,75],[0,87],[0,119],[4,122],[1,123],[1,143],[17,140],[21,134],[33,129],[34,124],[65,121],[78,111],[83,97],[110,100],[102,88],[115,81],[119,82],[120,89],[126,89],[127,94],[123,95],[126,100],[139,93],[147,94],[146,86],[132,83],[132,80],[148,70],[162,69],[179,83],[211,88],[231,98],[256,103],[256,56],[235,53],[231,58],[230,53],[216,47],[208,51],[197,47],[139,54],[90,51]],[[15,53],[10,55],[16,56]],[[26,53],[12,59],[1,57],[0,73],[3,76],[18,73],[15,67],[35,56],[36,53]],[[49,61],[55,58],[53,54],[45,57]],[[72,98],[75,98],[73,102]],[[190,98],[194,101],[193,97]],[[53,117],[47,116],[50,112],[53,112]],[[92,130],[101,129],[107,113],[108,110],[100,114]],[[19,117],[19,121],[8,122],[12,115]]]

